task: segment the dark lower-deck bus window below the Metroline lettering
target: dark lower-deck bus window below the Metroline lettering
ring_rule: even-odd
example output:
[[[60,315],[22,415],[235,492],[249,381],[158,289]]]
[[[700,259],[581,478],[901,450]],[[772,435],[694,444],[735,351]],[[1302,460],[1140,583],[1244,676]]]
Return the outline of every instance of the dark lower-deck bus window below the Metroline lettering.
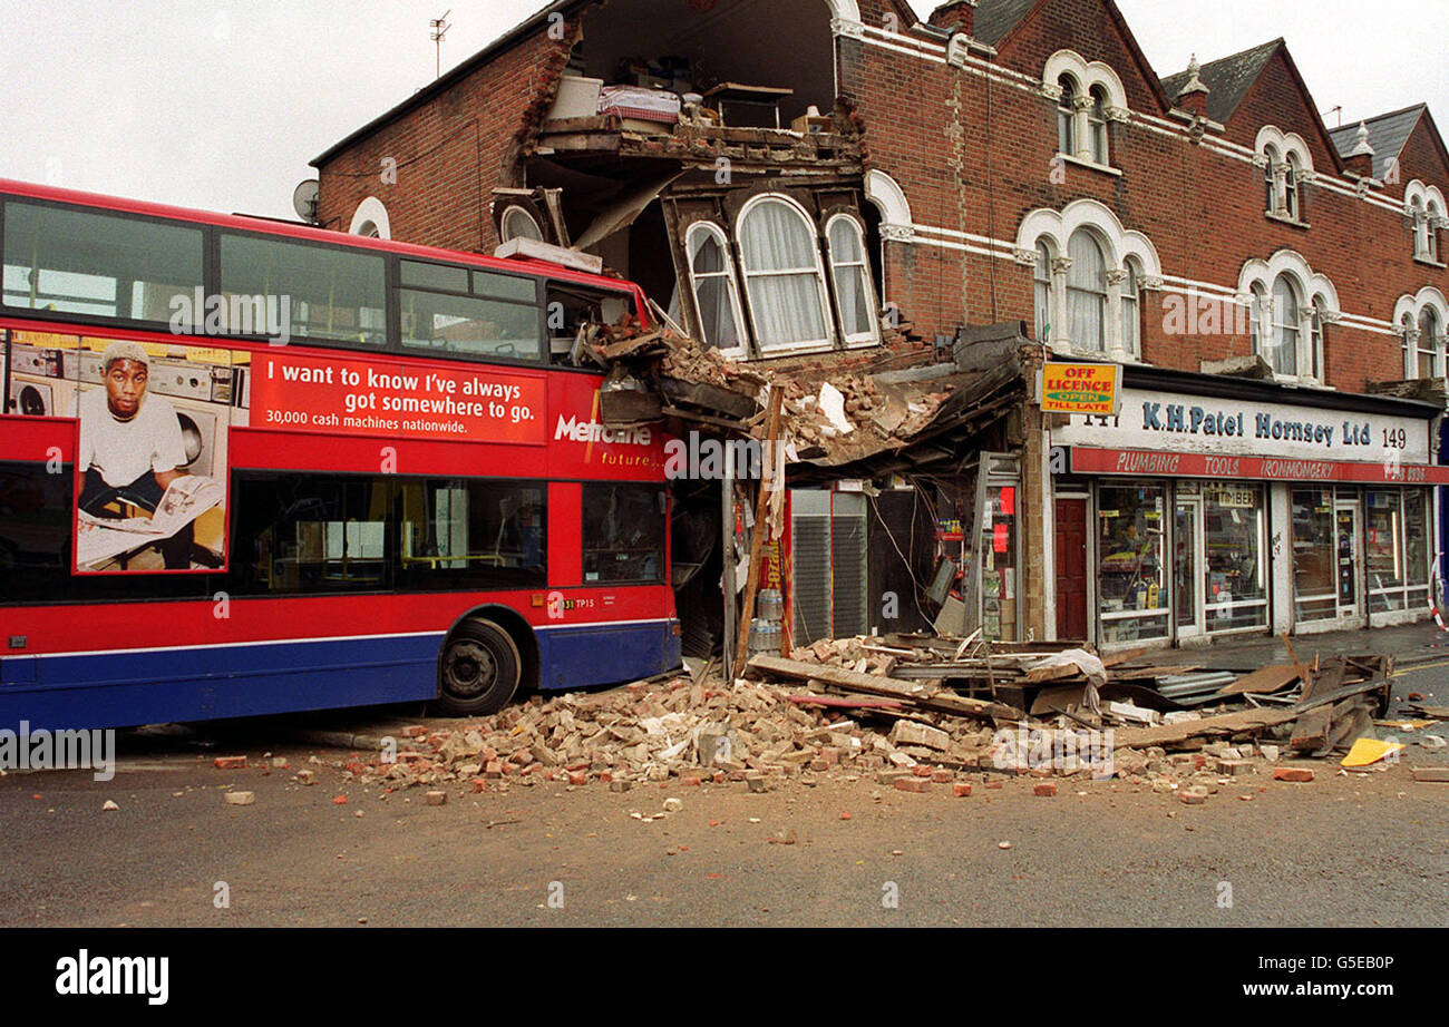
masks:
[[[664,581],[664,492],[651,485],[584,485],[584,582]]]

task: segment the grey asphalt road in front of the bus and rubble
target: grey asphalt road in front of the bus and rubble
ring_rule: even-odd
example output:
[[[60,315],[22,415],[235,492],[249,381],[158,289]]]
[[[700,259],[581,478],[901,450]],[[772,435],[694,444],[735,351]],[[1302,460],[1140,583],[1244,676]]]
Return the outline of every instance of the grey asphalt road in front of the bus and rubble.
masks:
[[[1410,779],[1410,763],[1443,763],[1417,746],[1400,766],[1316,763],[1311,784],[1250,778],[1197,807],[1126,782],[1037,798],[980,778],[959,800],[823,779],[762,795],[452,785],[427,807],[326,763],[300,785],[309,758],[346,753],[277,737],[226,740],[245,771],[132,739],[110,782],[0,778],[0,924],[1449,926],[1449,784]],[[264,752],[290,769],[259,769]],[[255,804],[227,805],[227,787]],[[667,797],[684,808],[630,817]]]

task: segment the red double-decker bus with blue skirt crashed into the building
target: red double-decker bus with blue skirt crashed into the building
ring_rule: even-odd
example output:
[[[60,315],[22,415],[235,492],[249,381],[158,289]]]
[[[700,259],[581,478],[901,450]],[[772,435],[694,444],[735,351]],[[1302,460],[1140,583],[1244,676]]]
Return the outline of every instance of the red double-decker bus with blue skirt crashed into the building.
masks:
[[[0,181],[0,724],[120,727],[678,666],[656,430],[556,264]]]

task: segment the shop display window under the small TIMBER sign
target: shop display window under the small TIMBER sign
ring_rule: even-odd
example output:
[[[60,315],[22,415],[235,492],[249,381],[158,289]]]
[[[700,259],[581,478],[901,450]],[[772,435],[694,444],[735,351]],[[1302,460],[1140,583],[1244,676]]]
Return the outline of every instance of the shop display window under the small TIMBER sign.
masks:
[[[1264,491],[1240,482],[1203,485],[1204,603],[1208,632],[1268,626]]]

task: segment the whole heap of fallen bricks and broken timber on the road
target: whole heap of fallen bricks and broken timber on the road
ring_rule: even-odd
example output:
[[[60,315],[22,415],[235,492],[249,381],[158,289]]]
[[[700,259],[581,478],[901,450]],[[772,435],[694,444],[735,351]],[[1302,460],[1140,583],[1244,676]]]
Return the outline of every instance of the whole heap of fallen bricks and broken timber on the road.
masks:
[[[436,732],[406,729],[396,758],[355,756],[345,776],[385,791],[452,782],[483,792],[545,782],[616,791],[739,782],[769,791],[824,775],[904,791],[949,782],[958,795],[982,774],[1082,776],[1136,781],[1197,804],[1226,785],[1311,781],[1313,769],[1279,762],[1343,750],[1369,734],[1392,666],[1385,658],[1339,658],[1317,671],[1294,665],[1308,678],[1301,694],[1255,705],[1272,692],[1245,703],[1246,692],[1220,687],[1229,694],[1219,705],[1243,708],[1203,713],[1152,700],[1143,684],[1181,676],[1181,668],[1133,668],[1135,653],[1104,661],[1061,646],[997,653],[995,645],[923,636],[822,640],[790,659],[755,656],[733,685],[674,676],[533,698]],[[1284,676],[1255,672],[1233,684],[1269,688]],[[1143,704],[1110,698],[1123,687]],[[1037,788],[1055,794],[1055,785]]]

